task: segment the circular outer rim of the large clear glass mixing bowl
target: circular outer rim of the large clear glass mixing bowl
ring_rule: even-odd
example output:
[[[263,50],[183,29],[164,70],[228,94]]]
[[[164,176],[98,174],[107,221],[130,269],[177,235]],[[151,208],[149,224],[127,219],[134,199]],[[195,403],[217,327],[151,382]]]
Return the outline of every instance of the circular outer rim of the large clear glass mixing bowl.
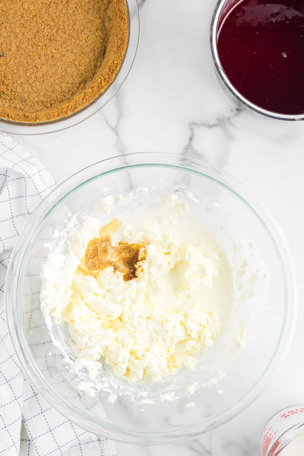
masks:
[[[131,163],[127,163],[128,159],[130,159]],[[120,166],[111,166],[111,163],[117,162]],[[173,163],[170,163],[173,162]],[[94,170],[98,167],[106,165],[107,169],[102,172],[94,172]],[[108,166],[107,166],[108,165]],[[31,241],[35,237],[36,230],[39,229],[41,226],[42,221],[52,212],[52,210],[57,206],[59,202],[67,197],[68,194],[77,190],[82,185],[86,185],[92,179],[100,178],[103,175],[114,173],[123,169],[128,169],[132,167],[138,168],[139,166],[165,166],[173,169],[178,169],[180,171],[191,171],[196,175],[201,175],[203,178],[207,178],[212,181],[216,181],[221,187],[225,188],[228,192],[231,192],[236,196],[239,200],[241,200],[253,213],[253,215],[258,218],[259,222],[262,224],[263,228],[267,231],[270,240],[273,242],[273,246],[277,251],[278,258],[281,261],[281,266],[283,268],[283,275],[285,277],[285,304],[284,304],[284,317],[283,323],[280,331],[280,336],[278,337],[278,341],[272,357],[268,362],[267,366],[265,367],[261,377],[252,385],[250,389],[244,394],[241,398],[239,398],[234,404],[231,404],[226,409],[223,409],[221,412],[213,415],[210,419],[203,420],[199,423],[178,427],[173,430],[164,430],[164,431],[142,431],[142,430],[132,430],[127,427],[112,425],[111,423],[105,422],[103,420],[99,420],[93,417],[88,418],[88,416],[77,407],[74,407],[69,401],[61,396],[61,394],[57,394],[56,389],[52,388],[52,385],[48,383],[48,381],[44,378],[43,374],[40,372],[40,369],[37,368],[36,362],[34,358],[31,356],[31,350],[28,347],[26,342],[26,337],[24,333],[23,326],[21,324],[21,315],[20,315],[20,308],[19,308],[19,285],[21,279],[21,272],[23,269],[23,262],[26,257],[26,253],[31,246]],[[92,173],[93,171],[93,173]],[[86,178],[83,180],[79,180],[79,177],[82,175],[86,175]],[[78,181],[77,185],[70,186],[70,182],[74,180]],[[41,209],[41,205],[45,205],[47,200],[52,201],[52,196],[55,192],[58,192],[58,189],[62,186],[66,186],[67,191],[62,194],[62,196],[56,198],[55,202],[52,202],[50,207],[48,207],[46,213],[42,218],[39,219],[38,222],[35,224],[35,229],[31,228],[31,219],[34,218],[36,212],[39,212]],[[245,197],[242,195],[245,193]],[[253,204],[248,202],[252,200]],[[258,208],[254,207],[258,206]],[[262,215],[260,214],[262,212]],[[265,222],[264,218],[267,219],[267,223]],[[269,228],[269,226],[272,228]],[[273,236],[274,230],[274,236]],[[27,233],[26,233],[27,231]],[[176,440],[182,440],[180,436],[183,432],[188,430],[197,430],[198,428],[204,428],[206,425],[210,426],[212,423],[216,423],[220,417],[222,418],[222,424],[227,423],[229,420],[234,418],[235,416],[239,415],[244,409],[247,408],[249,404],[255,400],[259,394],[266,388],[268,383],[274,378],[275,374],[277,373],[279,367],[283,363],[283,360],[289,350],[290,343],[292,341],[294,328],[295,328],[295,321],[296,321],[296,313],[297,313],[297,289],[295,283],[295,272],[294,272],[294,263],[289,251],[289,247],[287,241],[285,240],[281,229],[278,227],[277,223],[273,219],[272,215],[268,211],[268,209],[263,205],[263,203],[255,197],[255,195],[246,187],[242,182],[238,181],[235,177],[227,173],[226,171],[217,168],[216,166],[210,165],[204,161],[190,158],[183,155],[176,155],[176,154],[168,154],[168,153],[158,153],[158,152],[139,152],[134,154],[126,154],[126,155],[118,155],[116,157],[108,158],[103,161],[99,161],[91,166],[84,168],[81,171],[78,171],[71,177],[67,178],[65,181],[62,182],[58,187],[56,187],[44,200],[40,203],[40,205],[36,208],[33,212],[31,217],[26,222],[25,227],[22,229],[21,234],[26,235],[26,243],[23,244],[21,248],[21,254],[18,262],[17,267],[17,279],[15,280],[14,271],[12,270],[12,260],[14,259],[16,250],[20,247],[19,243],[21,244],[21,235],[19,236],[15,247],[13,249],[10,264],[8,267],[7,273],[7,280],[5,284],[5,312],[6,312],[6,321],[8,322],[10,340],[14,347],[15,353],[17,355],[18,361],[21,364],[23,371],[26,373],[26,376],[30,379],[31,383],[37,389],[37,391],[42,395],[46,401],[52,405],[55,409],[57,409],[60,413],[65,415],[62,409],[57,408],[58,401],[63,404],[65,409],[68,409],[67,415],[65,415],[69,420],[73,421],[77,425],[85,427],[85,429],[91,430],[89,425],[86,427],[85,425],[79,424],[77,422],[77,417],[86,418],[90,423],[95,423],[100,426],[104,426],[108,430],[119,431],[124,434],[136,434],[136,435],[148,435],[151,437],[162,436],[165,435],[176,435]],[[279,245],[278,245],[279,244]],[[283,258],[282,258],[283,253]],[[284,266],[286,265],[286,267]],[[14,287],[13,287],[13,302],[10,302],[9,294],[10,290],[7,284],[10,282],[10,276],[13,275],[12,280],[14,280]],[[16,320],[17,318],[17,320]],[[20,339],[21,337],[21,339]],[[260,386],[260,388],[258,388]],[[45,393],[45,388],[48,390],[48,394]],[[51,400],[52,399],[52,400]],[[72,416],[71,416],[72,413]],[[202,430],[204,432],[204,430]],[[210,431],[207,431],[210,432]],[[104,435],[104,432],[103,434]],[[111,435],[112,439],[115,440],[115,436]],[[119,439],[122,441],[121,439]],[[128,440],[125,440],[128,442]],[[132,442],[135,443],[135,442]],[[140,443],[140,442],[139,442]],[[153,443],[153,442],[152,442]]]

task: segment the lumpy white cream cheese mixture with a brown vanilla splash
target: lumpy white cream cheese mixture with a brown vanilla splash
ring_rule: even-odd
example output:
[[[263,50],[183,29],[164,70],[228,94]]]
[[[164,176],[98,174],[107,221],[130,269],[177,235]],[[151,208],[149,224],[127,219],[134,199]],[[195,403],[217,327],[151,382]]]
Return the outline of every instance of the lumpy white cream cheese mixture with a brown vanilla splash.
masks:
[[[224,251],[175,194],[159,208],[107,220],[83,218],[69,234],[67,256],[49,255],[41,274],[45,316],[68,325],[78,358],[103,361],[129,382],[195,368],[231,311]]]

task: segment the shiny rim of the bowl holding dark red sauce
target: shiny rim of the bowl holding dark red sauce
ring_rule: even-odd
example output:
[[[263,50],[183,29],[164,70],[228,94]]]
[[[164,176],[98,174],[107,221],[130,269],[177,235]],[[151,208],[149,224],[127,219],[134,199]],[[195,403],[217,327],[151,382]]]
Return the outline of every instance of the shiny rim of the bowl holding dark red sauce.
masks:
[[[241,2],[242,0],[239,0]],[[238,3],[239,3],[238,2]],[[230,82],[229,78],[227,77],[224,68],[222,67],[222,63],[220,57],[218,55],[217,50],[217,26],[219,23],[219,19],[221,17],[221,13],[223,7],[227,3],[227,0],[218,0],[216,3],[216,7],[212,16],[211,20],[211,28],[210,28],[210,45],[211,45],[211,54],[213,59],[213,64],[216,69],[216,73],[221,79],[221,82],[224,84],[225,88],[230,92],[232,97],[236,98],[240,104],[246,106],[247,109],[251,111],[266,116],[270,119],[275,120],[304,120],[304,114],[281,114],[276,113],[274,111],[269,111],[268,109],[264,109],[257,104],[252,103],[248,98],[244,97],[242,93],[240,93],[237,88]]]

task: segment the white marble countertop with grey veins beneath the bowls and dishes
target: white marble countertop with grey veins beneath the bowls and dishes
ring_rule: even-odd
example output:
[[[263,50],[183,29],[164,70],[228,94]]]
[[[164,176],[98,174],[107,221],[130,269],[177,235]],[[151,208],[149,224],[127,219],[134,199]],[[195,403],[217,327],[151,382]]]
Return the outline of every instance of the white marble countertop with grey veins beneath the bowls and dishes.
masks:
[[[304,291],[304,122],[279,122],[237,110],[211,64],[209,26],[215,0],[140,0],[134,66],[118,94],[71,129],[15,136],[57,183],[96,161],[138,151],[201,158],[243,181],[285,234]],[[201,439],[172,446],[117,443],[118,456],[258,456],[260,435],[279,409],[304,403],[304,307],[283,368],[241,417]]]

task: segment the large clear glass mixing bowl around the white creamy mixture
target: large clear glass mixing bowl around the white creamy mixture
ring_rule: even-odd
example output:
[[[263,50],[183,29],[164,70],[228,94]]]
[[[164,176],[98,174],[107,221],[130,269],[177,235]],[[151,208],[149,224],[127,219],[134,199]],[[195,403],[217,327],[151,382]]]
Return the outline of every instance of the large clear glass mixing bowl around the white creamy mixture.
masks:
[[[115,200],[139,187],[147,187],[149,191],[132,204],[149,205],[155,196],[164,197],[169,192],[176,192],[180,197],[188,195],[189,217],[218,231],[232,263],[233,306],[239,310],[244,307],[247,335],[244,347],[238,341],[240,347],[232,363],[228,359],[225,329],[214,347],[208,349],[206,370],[185,369],[161,383],[129,386],[136,398],[139,390],[147,388],[154,398],[160,392],[173,390],[176,400],[143,404],[121,395],[110,404],[108,393],[100,391],[92,398],[75,386],[73,374],[63,364],[62,352],[52,342],[40,310],[39,274],[55,230],[63,233],[64,239],[64,230],[72,216],[79,220],[82,215],[94,212],[94,203],[103,194],[111,194]],[[191,199],[189,192],[199,202]],[[238,247],[233,244],[231,248],[231,239],[237,240]],[[267,278],[267,287],[257,289],[249,301],[242,301],[239,280],[245,276],[244,265],[252,261],[255,269],[249,282],[258,281],[262,274],[260,279],[263,282]],[[262,202],[225,171],[189,157],[156,152],[101,161],[53,190],[31,215],[17,240],[7,273],[5,302],[17,358],[41,396],[82,428],[135,444],[170,443],[208,433],[246,409],[278,372],[292,339],[297,307],[289,248]],[[241,313],[237,316],[233,312],[232,308],[234,316],[228,321],[228,332],[236,318],[243,318]],[[61,337],[55,324],[53,331],[55,338]],[[225,355],[222,364],[221,353]],[[198,388],[193,395],[186,393],[187,385],[208,381],[219,368],[225,370],[226,376],[217,385]],[[196,406],[185,408],[190,402]]]

